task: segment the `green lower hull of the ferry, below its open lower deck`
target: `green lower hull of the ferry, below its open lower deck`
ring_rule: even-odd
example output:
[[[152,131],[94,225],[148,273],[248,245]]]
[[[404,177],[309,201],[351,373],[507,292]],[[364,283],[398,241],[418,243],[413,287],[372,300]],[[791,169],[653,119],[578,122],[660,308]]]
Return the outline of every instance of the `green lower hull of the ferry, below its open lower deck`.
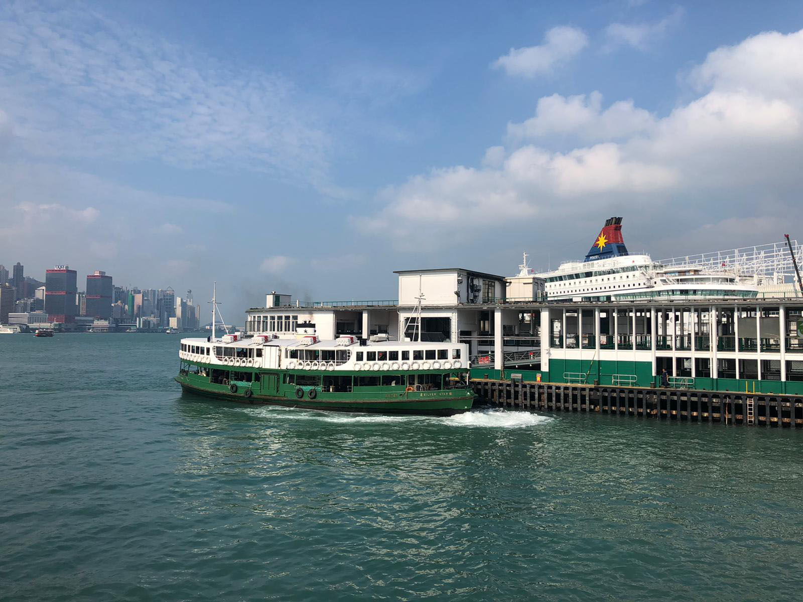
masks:
[[[451,389],[425,393],[393,393],[385,399],[343,399],[327,398],[322,393],[314,400],[304,397],[275,397],[253,394],[246,397],[244,393],[231,393],[225,387],[218,388],[212,384],[194,383],[189,376],[175,377],[181,384],[182,392],[193,393],[223,401],[235,401],[251,405],[280,405],[285,408],[316,409],[328,412],[349,413],[381,413],[381,414],[413,414],[420,416],[453,416],[471,409],[475,395],[470,389]]]

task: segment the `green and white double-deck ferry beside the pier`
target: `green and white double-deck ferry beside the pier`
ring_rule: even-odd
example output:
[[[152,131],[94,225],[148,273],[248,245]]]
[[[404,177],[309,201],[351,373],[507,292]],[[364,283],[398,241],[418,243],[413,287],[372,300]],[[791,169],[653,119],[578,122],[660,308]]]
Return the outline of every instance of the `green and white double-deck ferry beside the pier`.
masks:
[[[466,412],[475,398],[467,344],[384,335],[320,340],[313,323],[298,324],[289,338],[218,339],[214,325],[212,333],[181,339],[176,380],[185,392],[249,404],[442,416]]]

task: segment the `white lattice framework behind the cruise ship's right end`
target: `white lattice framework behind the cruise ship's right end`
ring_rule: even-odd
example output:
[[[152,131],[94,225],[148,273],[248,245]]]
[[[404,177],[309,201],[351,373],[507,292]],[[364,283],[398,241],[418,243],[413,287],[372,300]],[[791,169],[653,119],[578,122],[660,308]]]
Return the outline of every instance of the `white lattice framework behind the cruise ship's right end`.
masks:
[[[798,266],[803,267],[803,246],[792,241]],[[782,284],[794,278],[795,269],[785,242],[744,246],[740,249],[673,257],[658,262],[667,267],[696,267],[707,271],[728,271],[742,278],[756,277],[762,284]]]

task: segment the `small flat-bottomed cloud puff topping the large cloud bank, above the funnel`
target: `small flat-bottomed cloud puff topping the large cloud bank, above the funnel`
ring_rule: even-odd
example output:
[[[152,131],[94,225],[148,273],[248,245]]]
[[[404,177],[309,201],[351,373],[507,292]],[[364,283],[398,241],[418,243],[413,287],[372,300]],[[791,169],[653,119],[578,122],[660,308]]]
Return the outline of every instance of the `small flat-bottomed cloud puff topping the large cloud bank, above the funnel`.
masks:
[[[536,115],[521,124],[508,124],[507,133],[519,138],[551,134],[572,134],[582,140],[613,140],[654,127],[654,116],[636,108],[633,100],[619,100],[602,109],[602,95],[544,96],[538,100]]]

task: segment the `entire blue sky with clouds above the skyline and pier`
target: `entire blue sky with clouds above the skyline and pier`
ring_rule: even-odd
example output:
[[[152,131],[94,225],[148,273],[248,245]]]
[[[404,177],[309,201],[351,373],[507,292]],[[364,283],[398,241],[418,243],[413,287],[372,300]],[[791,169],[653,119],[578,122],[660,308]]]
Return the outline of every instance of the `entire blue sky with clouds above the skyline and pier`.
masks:
[[[803,238],[798,2],[6,2],[0,262],[392,299],[396,269]]]

